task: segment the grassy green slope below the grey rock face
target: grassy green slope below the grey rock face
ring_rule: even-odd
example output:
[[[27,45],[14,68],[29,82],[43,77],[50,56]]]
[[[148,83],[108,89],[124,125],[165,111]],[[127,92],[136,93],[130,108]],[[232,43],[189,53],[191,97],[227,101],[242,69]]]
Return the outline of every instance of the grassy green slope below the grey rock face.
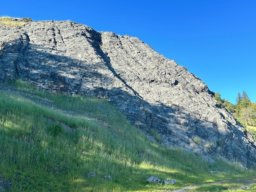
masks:
[[[22,81],[9,86],[36,100],[0,91],[0,174],[10,180],[12,192],[146,192],[255,177],[254,170],[218,160],[209,164],[150,142],[107,100],[40,92]],[[156,131],[152,134],[159,139]],[[215,168],[222,174],[211,172]],[[96,176],[88,177],[88,172]],[[177,183],[149,184],[150,176]]]

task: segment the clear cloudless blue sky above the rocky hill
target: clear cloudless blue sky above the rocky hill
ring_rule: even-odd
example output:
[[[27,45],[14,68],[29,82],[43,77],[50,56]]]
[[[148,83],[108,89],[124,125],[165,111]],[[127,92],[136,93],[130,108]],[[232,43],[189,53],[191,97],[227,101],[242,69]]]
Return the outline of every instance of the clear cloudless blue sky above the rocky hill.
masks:
[[[12,0],[0,16],[72,20],[136,36],[221,98],[256,102],[256,0]]]

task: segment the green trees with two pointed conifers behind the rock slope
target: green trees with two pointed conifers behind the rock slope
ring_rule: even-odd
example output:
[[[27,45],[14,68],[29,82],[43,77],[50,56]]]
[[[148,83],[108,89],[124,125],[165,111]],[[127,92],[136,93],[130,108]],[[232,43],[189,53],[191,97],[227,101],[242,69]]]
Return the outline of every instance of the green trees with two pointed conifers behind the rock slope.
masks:
[[[245,91],[238,93],[236,104],[232,104],[226,99],[220,98],[220,93],[215,93],[215,99],[220,107],[226,108],[242,126],[256,126],[256,103],[250,101]]]

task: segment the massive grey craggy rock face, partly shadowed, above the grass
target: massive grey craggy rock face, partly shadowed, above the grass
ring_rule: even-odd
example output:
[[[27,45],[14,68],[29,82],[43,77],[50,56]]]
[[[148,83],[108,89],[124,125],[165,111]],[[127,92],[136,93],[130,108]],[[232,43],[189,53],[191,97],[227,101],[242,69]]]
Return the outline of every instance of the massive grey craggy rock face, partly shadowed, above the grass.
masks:
[[[0,80],[108,99],[162,143],[256,168],[256,141],[199,78],[138,38],[70,21],[0,28]]]

